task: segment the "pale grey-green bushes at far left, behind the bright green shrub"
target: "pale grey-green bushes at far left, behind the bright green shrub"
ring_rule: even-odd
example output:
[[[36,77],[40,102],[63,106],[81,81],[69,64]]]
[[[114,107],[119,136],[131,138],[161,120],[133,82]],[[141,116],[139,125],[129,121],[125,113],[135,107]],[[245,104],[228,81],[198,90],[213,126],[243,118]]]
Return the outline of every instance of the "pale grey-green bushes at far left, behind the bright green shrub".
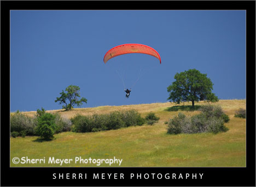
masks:
[[[18,137],[18,136],[40,136],[39,132],[43,133],[43,128],[41,128],[40,131],[38,131],[38,125],[40,122],[42,122],[42,116],[45,114],[48,115],[49,113],[46,113],[45,110],[42,108],[42,110],[37,109],[37,113],[34,116],[27,116],[25,114],[22,114],[19,112],[19,110],[10,115],[10,136],[11,137]],[[70,131],[72,122],[69,119],[62,118],[60,114],[51,114],[53,115],[54,124],[56,125],[56,128],[53,128],[54,133],[59,132],[65,132]],[[44,124],[48,124],[46,122],[47,120],[50,120],[51,118],[47,118]],[[41,126],[42,124],[40,124]],[[49,125],[49,124],[48,124]],[[44,127],[46,132],[46,126]],[[49,134],[52,134],[52,131],[48,129]],[[50,137],[50,136],[49,136]],[[46,138],[47,139],[47,138]]]

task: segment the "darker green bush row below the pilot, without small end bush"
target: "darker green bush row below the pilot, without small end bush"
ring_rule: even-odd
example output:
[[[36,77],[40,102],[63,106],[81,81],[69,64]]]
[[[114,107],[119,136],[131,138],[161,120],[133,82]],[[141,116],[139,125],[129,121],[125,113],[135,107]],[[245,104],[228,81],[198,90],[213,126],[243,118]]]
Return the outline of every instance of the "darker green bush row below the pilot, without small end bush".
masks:
[[[114,111],[109,114],[85,116],[77,114],[71,119],[74,132],[97,132],[122,127],[143,125],[144,119],[136,110]]]

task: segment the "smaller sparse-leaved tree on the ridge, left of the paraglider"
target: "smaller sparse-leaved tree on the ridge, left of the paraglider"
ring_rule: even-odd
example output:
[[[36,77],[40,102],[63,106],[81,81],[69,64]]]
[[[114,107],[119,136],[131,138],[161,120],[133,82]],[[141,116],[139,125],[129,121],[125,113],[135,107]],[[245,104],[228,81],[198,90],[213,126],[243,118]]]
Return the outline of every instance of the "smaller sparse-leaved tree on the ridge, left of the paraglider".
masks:
[[[60,93],[60,97],[57,97],[55,102],[59,102],[59,104],[65,103],[64,106],[62,106],[63,109],[71,110],[73,106],[76,104],[77,106],[81,106],[84,103],[87,103],[86,98],[82,97],[81,100],[78,100],[78,97],[80,97],[80,87],[70,85],[66,87],[66,93],[62,90]],[[69,101],[69,104],[66,102]]]

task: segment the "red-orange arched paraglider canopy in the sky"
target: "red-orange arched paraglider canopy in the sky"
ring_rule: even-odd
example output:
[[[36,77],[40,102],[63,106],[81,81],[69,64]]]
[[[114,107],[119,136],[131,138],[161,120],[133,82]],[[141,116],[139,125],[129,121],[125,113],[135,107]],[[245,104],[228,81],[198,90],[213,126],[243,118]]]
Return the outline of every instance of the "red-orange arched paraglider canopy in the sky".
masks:
[[[147,55],[152,55],[156,57],[161,64],[161,57],[155,49],[151,48],[150,46],[143,45],[143,44],[123,44],[115,46],[114,48],[110,49],[106,55],[104,56],[104,63],[106,63],[109,59],[112,59],[115,56],[129,54],[129,53],[143,53]]]

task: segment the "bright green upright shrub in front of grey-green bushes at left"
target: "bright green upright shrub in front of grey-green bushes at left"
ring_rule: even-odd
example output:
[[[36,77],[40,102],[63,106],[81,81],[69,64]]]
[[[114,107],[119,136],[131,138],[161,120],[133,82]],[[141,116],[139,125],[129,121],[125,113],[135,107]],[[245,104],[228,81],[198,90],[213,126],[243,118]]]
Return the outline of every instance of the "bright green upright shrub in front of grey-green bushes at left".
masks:
[[[57,127],[55,124],[55,116],[50,113],[44,113],[38,117],[37,135],[45,140],[54,138]]]

